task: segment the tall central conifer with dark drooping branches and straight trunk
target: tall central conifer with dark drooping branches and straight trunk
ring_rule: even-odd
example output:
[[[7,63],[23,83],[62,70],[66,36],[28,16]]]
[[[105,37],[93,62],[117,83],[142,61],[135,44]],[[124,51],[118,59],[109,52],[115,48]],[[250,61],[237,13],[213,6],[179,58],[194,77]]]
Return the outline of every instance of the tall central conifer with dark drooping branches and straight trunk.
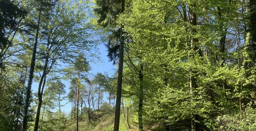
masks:
[[[97,0],[95,3],[99,8],[95,8],[94,11],[99,15],[98,23],[103,25],[103,27],[115,26],[117,15],[124,13],[125,8],[125,0]],[[112,10],[112,6],[117,10]],[[114,122],[114,131],[119,130],[119,120],[120,120],[120,106],[121,106],[121,91],[122,91],[122,78],[123,78],[123,59],[124,59],[124,26],[121,24],[120,29],[118,29],[118,33],[120,33],[120,44],[114,45],[112,48],[110,43],[108,44],[109,58],[110,60],[114,60],[114,58],[119,58],[118,63],[118,80],[117,80],[117,98],[116,98],[116,111],[115,111],[115,122]],[[114,34],[117,34],[114,32]],[[119,39],[119,38],[117,38]],[[119,48],[118,48],[119,47]],[[118,52],[118,53],[117,53]],[[118,55],[117,55],[118,54]]]

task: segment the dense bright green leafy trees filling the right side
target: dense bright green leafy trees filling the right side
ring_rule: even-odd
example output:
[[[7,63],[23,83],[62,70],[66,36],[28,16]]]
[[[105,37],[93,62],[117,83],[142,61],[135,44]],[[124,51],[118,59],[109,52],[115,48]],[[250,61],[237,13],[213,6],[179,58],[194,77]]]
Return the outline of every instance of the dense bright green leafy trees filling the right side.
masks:
[[[139,130],[255,130],[255,1],[132,0],[118,16]]]

